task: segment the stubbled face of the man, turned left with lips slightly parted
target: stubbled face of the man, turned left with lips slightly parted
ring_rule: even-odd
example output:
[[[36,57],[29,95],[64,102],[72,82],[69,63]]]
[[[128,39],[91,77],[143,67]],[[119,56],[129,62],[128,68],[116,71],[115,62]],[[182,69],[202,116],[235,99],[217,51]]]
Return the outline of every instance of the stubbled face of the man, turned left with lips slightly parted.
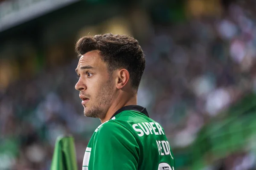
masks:
[[[79,59],[76,72],[79,80],[76,90],[84,106],[84,115],[103,119],[111,105],[114,82],[99,51],[89,51]]]

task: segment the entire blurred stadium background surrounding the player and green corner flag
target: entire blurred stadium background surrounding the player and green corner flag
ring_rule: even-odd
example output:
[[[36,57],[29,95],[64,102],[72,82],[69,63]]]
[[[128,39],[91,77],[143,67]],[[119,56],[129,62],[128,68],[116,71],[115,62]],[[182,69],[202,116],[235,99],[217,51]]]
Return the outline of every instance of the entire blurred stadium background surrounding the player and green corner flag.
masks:
[[[98,119],[76,84],[76,40],[129,34],[146,68],[138,104],[177,170],[256,169],[254,0],[0,0],[0,170],[49,170],[72,134],[79,169]]]

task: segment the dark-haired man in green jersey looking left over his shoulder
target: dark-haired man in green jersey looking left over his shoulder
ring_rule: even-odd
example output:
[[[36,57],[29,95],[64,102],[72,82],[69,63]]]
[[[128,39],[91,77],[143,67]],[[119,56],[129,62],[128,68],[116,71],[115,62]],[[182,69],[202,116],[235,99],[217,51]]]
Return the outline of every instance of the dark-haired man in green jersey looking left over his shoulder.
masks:
[[[84,115],[102,122],[84,153],[83,170],[174,170],[175,161],[159,123],[137,105],[145,57],[125,35],[82,37],[76,90]]]

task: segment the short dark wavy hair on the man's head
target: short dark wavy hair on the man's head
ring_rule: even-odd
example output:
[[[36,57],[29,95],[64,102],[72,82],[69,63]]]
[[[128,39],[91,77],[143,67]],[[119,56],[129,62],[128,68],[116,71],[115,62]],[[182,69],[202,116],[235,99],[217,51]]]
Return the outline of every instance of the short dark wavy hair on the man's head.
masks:
[[[131,86],[137,91],[145,69],[145,55],[139,42],[127,35],[99,34],[86,36],[76,42],[79,57],[89,51],[99,50],[109,73],[118,68],[128,70]]]

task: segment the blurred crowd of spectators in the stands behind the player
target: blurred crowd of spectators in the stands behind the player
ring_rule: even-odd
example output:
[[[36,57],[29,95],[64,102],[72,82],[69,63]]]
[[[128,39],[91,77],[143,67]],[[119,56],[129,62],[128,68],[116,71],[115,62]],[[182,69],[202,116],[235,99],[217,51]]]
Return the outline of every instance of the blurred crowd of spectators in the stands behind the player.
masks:
[[[192,14],[172,26],[152,24],[146,38],[137,36],[146,54],[138,104],[166,130],[174,153],[190,146],[208,122],[256,91],[255,20],[235,3],[219,15]],[[81,168],[84,148],[100,122],[82,113],[74,89],[78,60],[72,55],[67,64],[44,68],[29,78],[23,75],[1,88],[0,170],[49,169],[56,138],[68,133],[75,137]],[[223,160],[221,167],[205,169],[256,169],[256,153],[250,150]]]

